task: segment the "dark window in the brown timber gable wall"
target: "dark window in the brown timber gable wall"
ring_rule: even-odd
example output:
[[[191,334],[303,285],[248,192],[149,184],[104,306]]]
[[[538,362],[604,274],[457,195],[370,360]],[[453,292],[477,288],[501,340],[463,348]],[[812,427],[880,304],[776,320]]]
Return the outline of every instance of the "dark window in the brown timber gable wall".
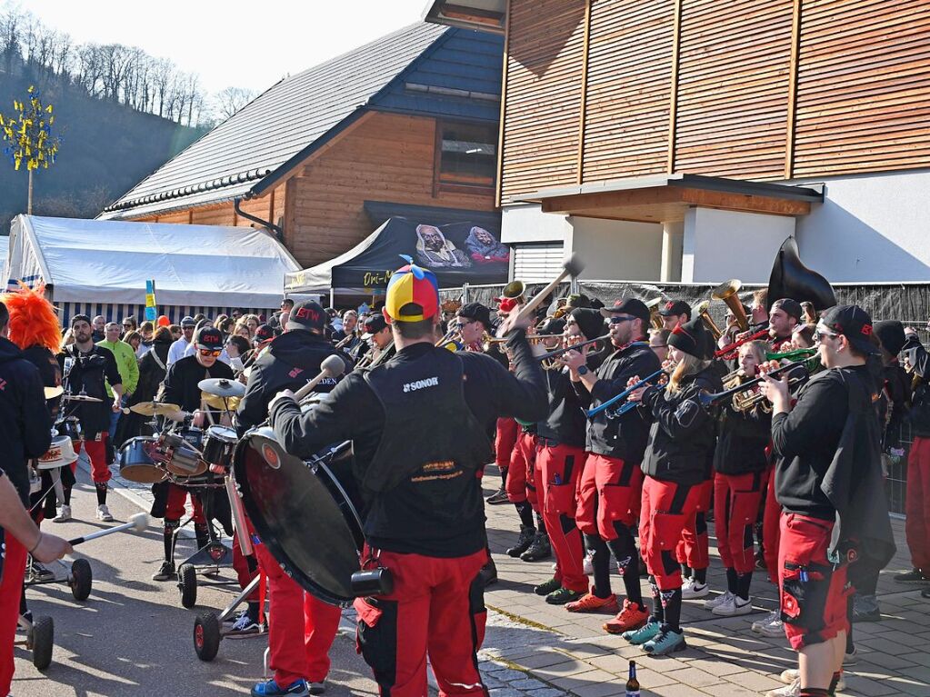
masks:
[[[496,124],[437,124],[437,184],[440,189],[490,189],[498,164]]]

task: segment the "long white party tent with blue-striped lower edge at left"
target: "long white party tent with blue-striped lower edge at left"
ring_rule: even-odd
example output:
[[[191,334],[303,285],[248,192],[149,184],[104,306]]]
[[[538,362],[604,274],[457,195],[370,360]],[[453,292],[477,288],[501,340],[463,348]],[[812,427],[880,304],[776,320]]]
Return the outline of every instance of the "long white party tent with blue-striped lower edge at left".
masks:
[[[64,323],[78,312],[141,317],[147,280],[173,322],[277,309],[285,274],[299,270],[269,232],[213,225],[17,216],[9,250],[7,288],[46,283]]]

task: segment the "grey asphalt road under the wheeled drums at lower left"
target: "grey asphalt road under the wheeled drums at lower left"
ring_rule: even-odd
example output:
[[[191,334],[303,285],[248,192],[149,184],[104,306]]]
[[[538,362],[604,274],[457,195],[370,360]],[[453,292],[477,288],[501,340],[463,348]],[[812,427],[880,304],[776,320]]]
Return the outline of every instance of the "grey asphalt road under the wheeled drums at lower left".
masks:
[[[66,537],[90,533],[123,522],[140,508],[111,492],[110,510],[117,523],[94,519],[96,499],[86,473],[73,494],[71,522],[47,522],[43,529]],[[160,523],[160,521],[155,521]],[[179,542],[184,556],[193,540]],[[151,580],[162,557],[160,524],[145,533],[117,533],[75,548],[75,558],[88,559],[94,582],[90,598],[73,599],[64,584],[33,586],[26,592],[34,615],[55,622],[52,664],[42,673],[32,655],[17,647],[15,697],[233,697],[248,694],[262,679],[262,654],[267,637],[223,639],[212,663],[201,662],[193,651],[193,622],[197,612],[219,612],[233,598],[237,586],[198,585],[197,607],[180,606],[177,585]],[[180,555],[179,555],[180,557]],[[69,566],[70,566],[70,559]],[[57,564],[49,565],[64,572]],[[232,569],[220,578],[235,580]],[[330,653],[333,668],[327,695],[377,694],[367,666],[355,654],[354,638],[340,634]]]

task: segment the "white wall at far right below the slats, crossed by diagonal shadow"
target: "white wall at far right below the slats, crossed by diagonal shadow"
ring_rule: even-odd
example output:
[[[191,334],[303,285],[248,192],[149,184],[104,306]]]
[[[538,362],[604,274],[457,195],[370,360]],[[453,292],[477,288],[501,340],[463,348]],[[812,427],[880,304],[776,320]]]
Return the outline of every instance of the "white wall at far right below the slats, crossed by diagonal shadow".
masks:
[[[826,183],[823,204],[798,218],[804,265],[831,283],[930,282],[930,170]]]

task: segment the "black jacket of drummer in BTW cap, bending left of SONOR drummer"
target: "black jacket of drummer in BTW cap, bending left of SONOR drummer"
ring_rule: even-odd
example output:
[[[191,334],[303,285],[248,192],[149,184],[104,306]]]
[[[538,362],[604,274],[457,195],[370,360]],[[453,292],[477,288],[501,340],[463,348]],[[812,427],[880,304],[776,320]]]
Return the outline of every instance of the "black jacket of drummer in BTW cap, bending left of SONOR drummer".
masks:
[[[320,363],[338,353],[322,335],[291,330],[276,336],[259,356],[248,375],[246,396],[239,402],[235,427],[241,436],[268,419],[268,402],[284,389],[297,390],[320,373]],[[317,392],[336,387],[337,378],[327,377]]]

